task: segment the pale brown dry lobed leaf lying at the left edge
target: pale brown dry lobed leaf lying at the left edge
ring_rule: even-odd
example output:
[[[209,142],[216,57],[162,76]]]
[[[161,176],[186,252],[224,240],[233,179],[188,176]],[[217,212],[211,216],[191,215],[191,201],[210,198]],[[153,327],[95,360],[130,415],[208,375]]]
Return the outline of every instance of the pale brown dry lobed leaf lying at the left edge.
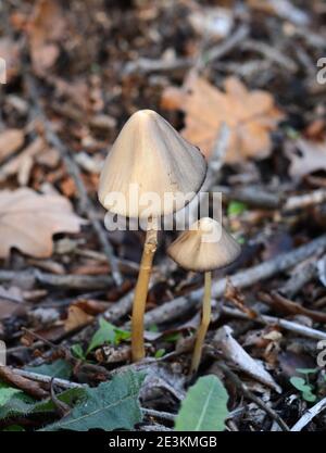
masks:
[[[0,192],[0,257],[15,247],[36,257],[52,254],[52,235],[78,232],[84,223],[61,196],[41,196],[32,189]]]

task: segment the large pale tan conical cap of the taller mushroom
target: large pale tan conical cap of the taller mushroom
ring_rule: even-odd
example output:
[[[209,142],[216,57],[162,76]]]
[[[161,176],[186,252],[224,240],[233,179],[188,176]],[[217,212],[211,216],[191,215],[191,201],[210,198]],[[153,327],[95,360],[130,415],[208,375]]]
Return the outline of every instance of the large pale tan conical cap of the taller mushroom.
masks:
[[[150,193],[158,201],[153,217],[183,209],[200,190],[206,174],[206,162],[198,148],[188,143],[162,116],[140,110],[127,121],[116,138],[100,177],[99,199],[114,214],[148,217],[143,212]],[[131,188],[131,190],[130,190]],[[124,197],[112,202],[112,193]],[[164,194],[180,193],[174,202]],[[185,201],[188,193],[191,194]],[[113,197],[114,198],[114,197]],[[166,199],[165,199],[166,200]]]

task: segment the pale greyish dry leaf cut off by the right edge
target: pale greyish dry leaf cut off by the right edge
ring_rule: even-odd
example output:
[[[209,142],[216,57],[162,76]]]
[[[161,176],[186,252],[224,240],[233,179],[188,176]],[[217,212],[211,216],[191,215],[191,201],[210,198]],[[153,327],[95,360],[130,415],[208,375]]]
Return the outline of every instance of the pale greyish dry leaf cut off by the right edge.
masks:
[[[291,161],[289,174],[292,178],[301,178],[318,169],[326,169],[326,141],[299,139],[287,143],[286,153]]]

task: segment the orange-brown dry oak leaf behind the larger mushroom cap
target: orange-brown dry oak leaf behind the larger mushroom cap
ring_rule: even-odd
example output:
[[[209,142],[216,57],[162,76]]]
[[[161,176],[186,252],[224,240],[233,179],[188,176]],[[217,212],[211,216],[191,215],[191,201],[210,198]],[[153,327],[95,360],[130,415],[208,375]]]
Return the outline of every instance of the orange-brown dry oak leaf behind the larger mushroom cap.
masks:
[[[262,90],[248,91],[236,77],[226,78],[224,87],[225,92],[190,74],[181,90],[168,88],[163,92],[162,105],[178,105],[186,113],[181,134],[206,156],[225,123],[230,129],[226,163],[267,158],[272,151],[269,133],[283,118],[273,96]]]

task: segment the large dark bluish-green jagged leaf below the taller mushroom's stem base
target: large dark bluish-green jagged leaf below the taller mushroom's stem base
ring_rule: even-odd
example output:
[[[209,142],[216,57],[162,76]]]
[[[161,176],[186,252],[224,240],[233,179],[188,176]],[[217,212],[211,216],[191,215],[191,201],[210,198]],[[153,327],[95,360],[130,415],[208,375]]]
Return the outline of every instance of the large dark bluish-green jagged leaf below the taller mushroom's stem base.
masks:
[[[97,388],[85,388],[83,398],[71,413],[61,420],[45,427],[43,431],[68,429],[88,431],[89,429],[131,429],[141,421],[138,394],[145,375],[124,373]]]

